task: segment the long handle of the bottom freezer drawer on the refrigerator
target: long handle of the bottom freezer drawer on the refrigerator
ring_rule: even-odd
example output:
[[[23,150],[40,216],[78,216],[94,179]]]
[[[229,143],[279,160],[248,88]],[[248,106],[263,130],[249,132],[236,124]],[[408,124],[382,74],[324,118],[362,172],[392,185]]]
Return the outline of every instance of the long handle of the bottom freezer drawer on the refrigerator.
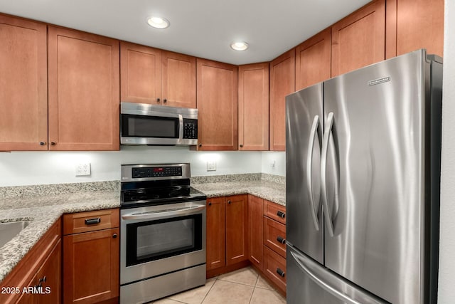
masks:
[[[303,258],[300,258],[293,251],[290,252],[291,256],[296,261],[297,266],[299,266],[299,268],[301,268],[301,270],[304,271],[304,273],[306,273],[306,275],[309,276],[309,278],[311,278],[311,280],[314,281],[314,283],[318,284],[321,288],[323,288],[324,290],[326,290],[328,293],[338,298],[339,300],[342,300],[344,303],[348,304],[386,303],[376,297],[364,293],[362,290],[355,288],[353,285],[350,285],[350,283],[343,281],[340,278],[337,278],[335,275],[328,273],[328,271],[326,271],[326,268],[322,268],[322,266],[311,267],[311,265],[306,265],[306,261],[304,261]],[[355,294],[355,299],[353,299],[350,295],[346,293]]]

